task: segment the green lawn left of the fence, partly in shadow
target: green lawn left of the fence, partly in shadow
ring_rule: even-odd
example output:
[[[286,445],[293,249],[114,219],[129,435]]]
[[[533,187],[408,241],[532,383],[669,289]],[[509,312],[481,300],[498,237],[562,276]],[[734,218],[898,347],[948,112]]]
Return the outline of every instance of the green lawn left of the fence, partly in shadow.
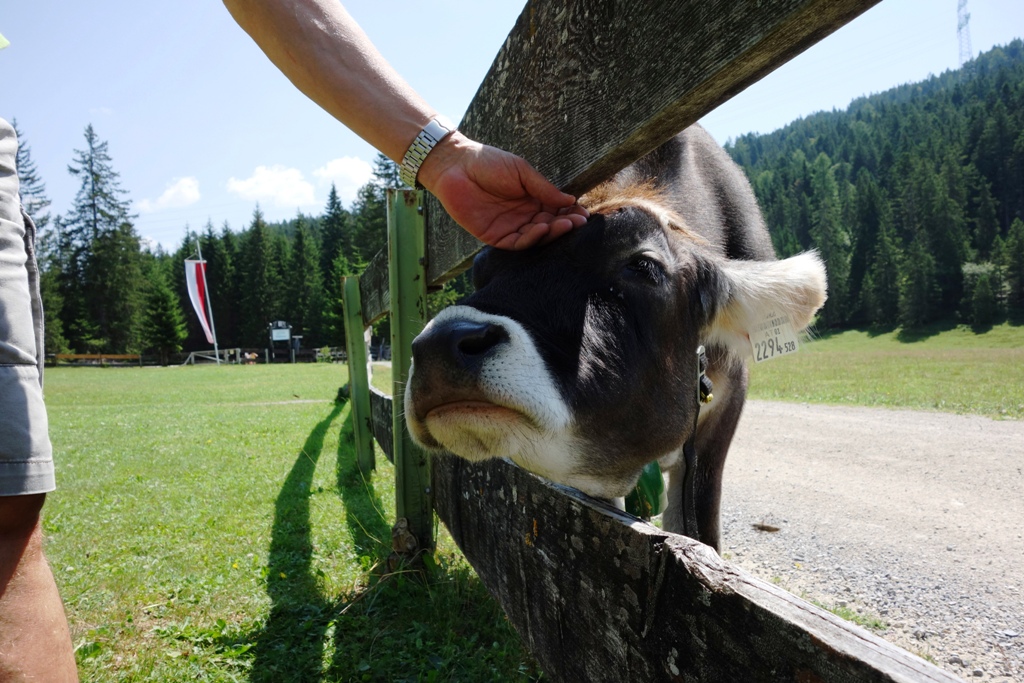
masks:
[[[454,544],[388,572],[394,471],[364,480],[342,366],[55,369],[47,554],[87,681],[514,681],[540,674]],[[386,380],[380,377],[375,381]]]

